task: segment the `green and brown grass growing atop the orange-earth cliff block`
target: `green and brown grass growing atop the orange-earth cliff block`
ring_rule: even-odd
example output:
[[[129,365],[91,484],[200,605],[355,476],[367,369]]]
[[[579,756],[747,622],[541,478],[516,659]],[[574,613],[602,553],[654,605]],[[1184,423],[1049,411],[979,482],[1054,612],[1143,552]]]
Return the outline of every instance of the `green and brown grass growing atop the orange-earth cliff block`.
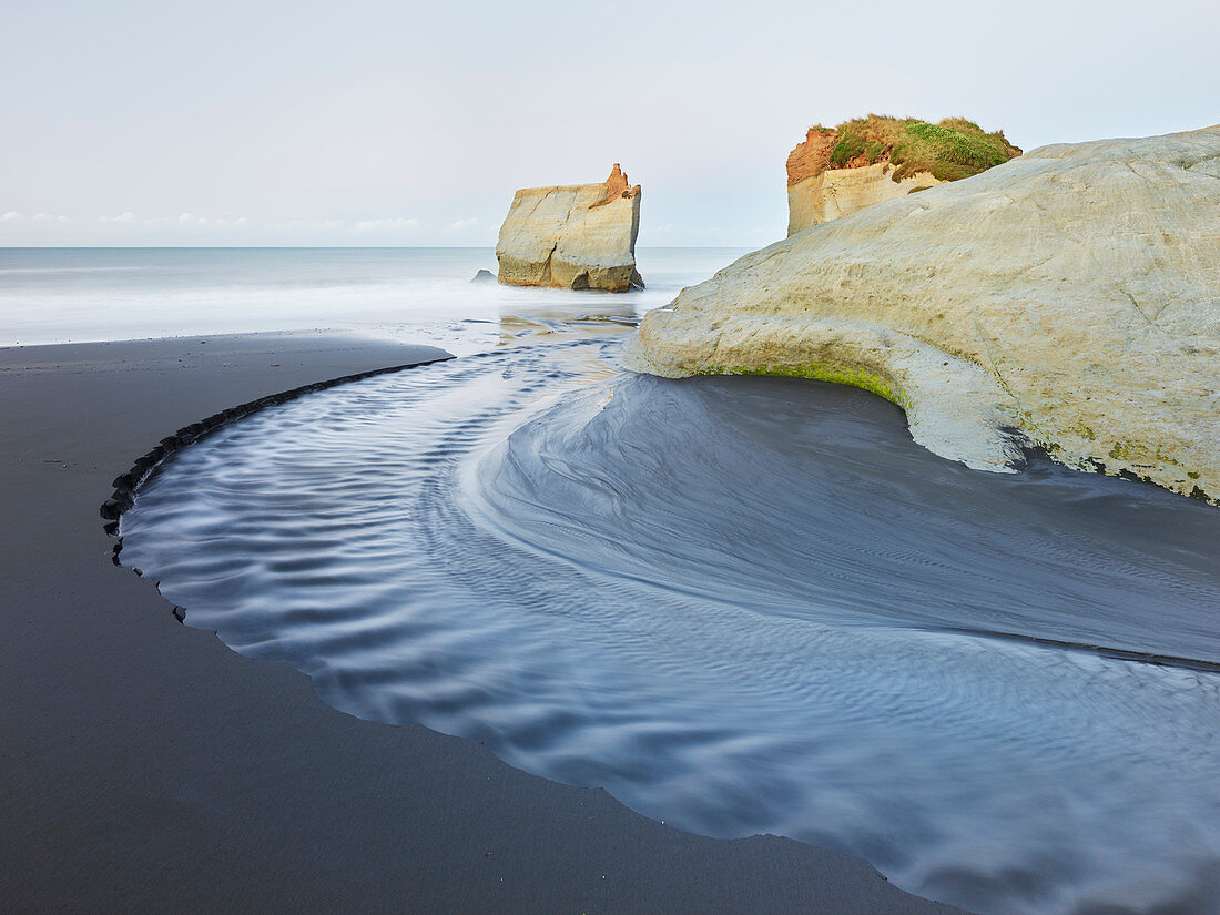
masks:
[[[964,117],[947,117],[930,124],[914,117],[869,115],[844,121],[836,131],[838,142],[831,150],[832,167],[888,160],[894,166],[894,181],[916,172],[931,172],[937,181],[958,181],[1021,152],[1004,138],[1003,131],[986,133]]]

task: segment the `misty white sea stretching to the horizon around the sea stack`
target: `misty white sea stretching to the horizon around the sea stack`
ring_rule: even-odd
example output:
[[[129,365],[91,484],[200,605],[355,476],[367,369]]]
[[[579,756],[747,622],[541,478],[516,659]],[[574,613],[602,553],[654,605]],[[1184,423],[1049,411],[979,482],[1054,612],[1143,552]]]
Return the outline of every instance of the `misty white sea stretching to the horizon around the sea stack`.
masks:
[[[664,305],[744,249],[644,248],[648,288],[619,295],[471,283],[488,248],[0,248],[0,346],[260,331],[494,344],[473,322]]]

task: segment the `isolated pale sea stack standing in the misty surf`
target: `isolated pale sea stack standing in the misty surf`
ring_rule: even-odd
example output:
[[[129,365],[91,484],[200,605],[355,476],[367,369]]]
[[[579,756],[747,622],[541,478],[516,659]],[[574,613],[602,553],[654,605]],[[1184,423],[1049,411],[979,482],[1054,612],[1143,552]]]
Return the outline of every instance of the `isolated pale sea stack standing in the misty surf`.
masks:
[[[617,165],[600,184],[525,188],[500,226],[501,283],[604,289],[643,288],[636,271],[640,189]]]

